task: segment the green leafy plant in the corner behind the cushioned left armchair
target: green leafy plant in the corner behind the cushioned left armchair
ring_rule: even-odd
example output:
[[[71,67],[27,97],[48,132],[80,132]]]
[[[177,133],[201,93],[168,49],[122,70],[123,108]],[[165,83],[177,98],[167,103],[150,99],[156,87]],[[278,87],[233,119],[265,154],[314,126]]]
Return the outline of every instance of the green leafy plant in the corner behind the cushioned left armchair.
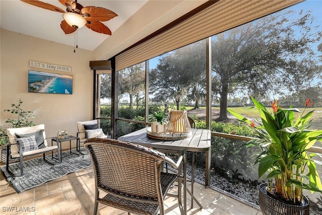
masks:
[[[18,104],[11,104],[12,109],[5,109],[5,112],[11,112],[12,114],[16,114],[17,118],[14,119],[7,119],[5,122],[9,123],[12,128],[19,128],[19,127],[28,127],[33,126],[35,123],[33,121],[30,121],[29,118],[34,118],[32,111],[24,111],[21,109],[22,105],[21,99],[19,99]],[[7,127],[7,128],[8,128]],[[8,135],[6,132],[6,129],[3,126],[0,126],[0,146],[4,146],[9,142]]]

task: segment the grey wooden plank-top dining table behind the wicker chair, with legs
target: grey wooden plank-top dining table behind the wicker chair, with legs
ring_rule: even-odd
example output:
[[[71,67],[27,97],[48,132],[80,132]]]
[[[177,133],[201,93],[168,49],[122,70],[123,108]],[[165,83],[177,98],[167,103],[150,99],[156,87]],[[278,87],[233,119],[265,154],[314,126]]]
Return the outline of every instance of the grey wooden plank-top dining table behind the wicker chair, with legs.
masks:
[[[193,183],[194,178],[192,174],[192,189],[191,191],[187,188],[187,152],[205,152],[206,162],[205,162],[205,185],[210,186],[210,162],[211,162],[211,131],[208,129],[192,129],[191,135],[182,139],[172,139],[172,138],[153,138],[148,135],[146,129],[149,127],[142,128],[140,130],[125,134],[118,137],[117,139],[127,142],[132,142],[133,144],[141,145],[144,147],[150,147],[156,150],[169,150],[181,152],[184,155],[183,159],[183,184],[184,184],[184,214],[187,214],[187,192],[192,197],[193,200],[202,208],[202,205],[193,195]]]

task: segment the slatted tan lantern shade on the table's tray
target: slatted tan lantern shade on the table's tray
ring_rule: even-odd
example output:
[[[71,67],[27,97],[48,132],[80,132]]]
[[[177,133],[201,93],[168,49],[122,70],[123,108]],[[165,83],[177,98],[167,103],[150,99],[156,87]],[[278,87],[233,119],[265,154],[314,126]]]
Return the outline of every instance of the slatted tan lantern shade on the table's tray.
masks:
[[[172,110],[168,125],[169,133],[186,133],[191,131],[191,126],[187,117],[187,111]]]

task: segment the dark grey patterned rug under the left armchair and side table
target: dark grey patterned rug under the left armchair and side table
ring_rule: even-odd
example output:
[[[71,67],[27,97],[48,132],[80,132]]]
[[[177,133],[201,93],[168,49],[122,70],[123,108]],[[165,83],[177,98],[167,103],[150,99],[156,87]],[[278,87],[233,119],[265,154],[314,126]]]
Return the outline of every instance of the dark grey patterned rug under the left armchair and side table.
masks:
[[[76,152],[73,150],[73,152]],[[24,161],[24,175],[22,177],[12,177],[6,172],[6,166],[0,167],[7,180],[13,184],[17,192],[21,193],[25,190],[32,189],[38,185],[52,181],[68,173],[76,172],[84,168],[92,166],[92,161],[85,148],[81,148],[81,152],[86,155],[78,157],[78,155],[70,155],[69,151],[62,152],[61,164],[48,164],[44,162],[43,158],[35,158]],[[57,154],[54,154],[57,157]],[[51,155],[46,159],[51,161]],[[56,160],[54,160],[56,161]],[[20,163],[10,164],[9,169],[20,175]]]

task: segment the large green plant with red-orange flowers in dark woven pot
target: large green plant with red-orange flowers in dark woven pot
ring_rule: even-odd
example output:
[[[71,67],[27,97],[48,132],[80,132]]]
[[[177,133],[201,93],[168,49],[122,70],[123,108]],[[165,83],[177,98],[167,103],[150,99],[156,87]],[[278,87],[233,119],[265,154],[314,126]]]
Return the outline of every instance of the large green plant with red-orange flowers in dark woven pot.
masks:
[[[261,115],[261,120],[249,120],[228,110],[238,120],[248,123],[257,134],[246,146],[261,149],[255,164],[258,163],[259,179],[266,175],[268,183],[260,185],[259,204],[264,214],[309,214],[309,201],[303,189],[322,192],[322,185],[314,153],[307,153],[316,140],[322,140],[322,130],[310,130],[310,117],[314,110],[303,114],[311,105],[307,99],[303,113],[292,106],[288,109],[271,104],[272,112],[252,98]]]

